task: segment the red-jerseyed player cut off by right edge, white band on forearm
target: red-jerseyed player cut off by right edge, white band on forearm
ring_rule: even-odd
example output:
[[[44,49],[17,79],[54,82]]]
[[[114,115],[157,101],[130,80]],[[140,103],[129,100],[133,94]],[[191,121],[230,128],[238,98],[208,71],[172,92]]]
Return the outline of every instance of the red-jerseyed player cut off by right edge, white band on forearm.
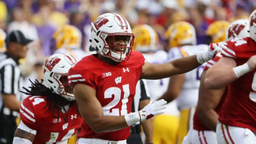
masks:
[[[206,73],[207,88],[228,85],[216,128],[218,144],[256,143],[256,10],[249,17],[249,35],[227,41],[225,54]]]

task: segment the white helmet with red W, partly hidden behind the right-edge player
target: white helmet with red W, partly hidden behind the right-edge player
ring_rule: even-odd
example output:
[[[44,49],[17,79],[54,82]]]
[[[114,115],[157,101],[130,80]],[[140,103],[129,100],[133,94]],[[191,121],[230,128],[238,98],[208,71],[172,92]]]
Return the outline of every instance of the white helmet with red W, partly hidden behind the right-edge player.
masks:
[[[226,41],[232,38],[249,37],[249,21],[247,19],[239,19],[232,22],[226,30]]]

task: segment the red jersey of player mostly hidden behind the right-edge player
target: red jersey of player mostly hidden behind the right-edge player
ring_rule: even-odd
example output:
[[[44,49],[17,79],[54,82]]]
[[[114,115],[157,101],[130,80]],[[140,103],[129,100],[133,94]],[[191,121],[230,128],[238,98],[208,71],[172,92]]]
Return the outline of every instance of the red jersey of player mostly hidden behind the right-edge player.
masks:
[[[212,60],[209,60],[206,64],[206,66],[204,67],[204,71],[208,70],[215,63],[217,63],[221,57],[222,57],[222,55],[218,54],[215,58],[213,58]],[[226,87],[225,91],[222,95],[222,98],[220,99],[218,105],[214,109],[215,112],[218,113],[218,114],[220,114],[220,110],[222,108],[222,105],[223,105],[223,102],[226,98],[227,93],[228,93],[228,89]],[[201,121],[201,119],[197,116],[196,112],[194,113],[194,117],[193,117],[193,128],[196,129],[196,130],[211,130],[206,125],[204,125],[204,123]]]

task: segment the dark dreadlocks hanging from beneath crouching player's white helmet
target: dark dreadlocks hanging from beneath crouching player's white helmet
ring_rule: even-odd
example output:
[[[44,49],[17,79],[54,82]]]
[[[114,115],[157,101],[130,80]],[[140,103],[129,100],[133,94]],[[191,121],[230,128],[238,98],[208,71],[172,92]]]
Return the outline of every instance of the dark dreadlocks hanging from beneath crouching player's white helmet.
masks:
[[[53,116],[57,118],[57,122],[59,121],[59,113],[61,112],[64,121],[68,122],[68,114],[67,111],[65,109],[64,106],[61,105],[59,98],[61,97],[58,94],[55,94],[52,90],[50,90],[48,87],[46,87],[45,85],[42,84],[43,79],[41,79],[41,82],[39,82],[37,79],[35,79],[34,82],[32,82],[30,79],[29,81],[31,82],[31,86],[28,88],[31,88],[31,90],[28,90],[26,87],[22,87],[23,89],[26,90],[26,92],[24,91],[20,91],[26,95],[32,95],[32,96],[42,96],[45,95],[46,96],[46,106],[44,108],[46,108],[48,106],[49,110],[52,112]],[[49,103],[49,100],[51,100],[51,104]],[[76,110],[79,114],[79,116],[81,117],[79,110],[78,110],[78,105],[75,102],[75,106],[76,106]],[[57,116],[55,115],[55,111],[54,111],[54,107],[57,108]],[[62,112],[62,109],[64,110],[66,117],[64,117],[64,114]]]

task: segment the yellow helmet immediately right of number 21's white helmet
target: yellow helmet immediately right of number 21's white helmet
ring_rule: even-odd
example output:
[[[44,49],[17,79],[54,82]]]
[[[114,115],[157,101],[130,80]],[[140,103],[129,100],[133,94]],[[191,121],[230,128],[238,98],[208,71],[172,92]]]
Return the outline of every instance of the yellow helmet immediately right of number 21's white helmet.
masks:
[[[149,25],[137,25],[132,28],[134,34],[133,49],[139,52],[157,50],[158,34]]]

